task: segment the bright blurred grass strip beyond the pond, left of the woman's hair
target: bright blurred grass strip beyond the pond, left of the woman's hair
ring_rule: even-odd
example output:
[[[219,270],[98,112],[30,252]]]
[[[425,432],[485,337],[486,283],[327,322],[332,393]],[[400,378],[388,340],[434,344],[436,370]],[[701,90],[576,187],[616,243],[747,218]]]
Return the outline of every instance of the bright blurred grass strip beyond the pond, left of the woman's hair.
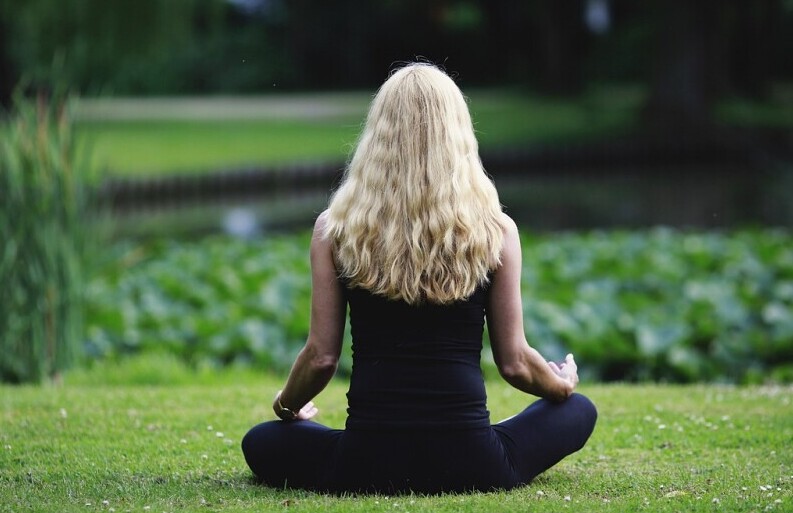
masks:
[[[101,121],[81,122],[78,131],[90,141],[98,166],[129,176],[343,161],[359,125],[351,120]]]

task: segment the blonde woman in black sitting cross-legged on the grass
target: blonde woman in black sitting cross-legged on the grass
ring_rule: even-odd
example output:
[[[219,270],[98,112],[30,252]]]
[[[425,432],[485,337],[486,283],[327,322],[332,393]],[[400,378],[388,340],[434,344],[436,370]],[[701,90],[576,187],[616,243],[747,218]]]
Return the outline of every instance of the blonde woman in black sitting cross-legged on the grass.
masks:
[[[478,156],[465,99],[427,64],[383,84],[311,241],[311,328],[273,408],[242,441],[273,487],[335,493],[509,489],[580,449],[595,425],[576,363],[546,362],[523,332],[515,223]],[[336,371],[347,305],[346,429],[310,419]],[[480,369],[542,399],[491,425]]]

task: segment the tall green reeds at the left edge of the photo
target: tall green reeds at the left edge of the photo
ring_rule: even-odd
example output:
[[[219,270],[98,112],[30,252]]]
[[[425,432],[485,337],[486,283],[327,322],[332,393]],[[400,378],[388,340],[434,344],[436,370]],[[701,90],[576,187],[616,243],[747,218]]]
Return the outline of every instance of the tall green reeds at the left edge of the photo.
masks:
[[[17,94],[0,125],[0,380],[38,382],[81,345],[93,188],[65,93]]]

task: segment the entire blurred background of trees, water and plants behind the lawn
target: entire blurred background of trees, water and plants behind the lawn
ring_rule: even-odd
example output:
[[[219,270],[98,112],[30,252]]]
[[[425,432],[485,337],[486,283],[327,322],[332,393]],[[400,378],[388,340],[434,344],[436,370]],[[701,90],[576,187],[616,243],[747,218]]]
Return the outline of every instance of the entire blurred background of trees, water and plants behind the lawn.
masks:
[[[288,368],[307,230],[422,60],[523,230],[532,344],[790,381],[791,29],[789,0],[0,0],[0,377]]]

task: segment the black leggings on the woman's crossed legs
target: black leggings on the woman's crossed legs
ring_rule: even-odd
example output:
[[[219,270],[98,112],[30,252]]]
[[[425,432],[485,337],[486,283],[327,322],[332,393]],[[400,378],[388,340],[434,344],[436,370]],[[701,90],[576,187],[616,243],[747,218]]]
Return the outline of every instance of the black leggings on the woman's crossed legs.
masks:
[[[354,431],[312,421],[264,422],[242,440],[245,460],[272,487],[345,493],[439,493],[528,483],[584,446],[597,411],[585,396],[540,399],[489,428]]]

